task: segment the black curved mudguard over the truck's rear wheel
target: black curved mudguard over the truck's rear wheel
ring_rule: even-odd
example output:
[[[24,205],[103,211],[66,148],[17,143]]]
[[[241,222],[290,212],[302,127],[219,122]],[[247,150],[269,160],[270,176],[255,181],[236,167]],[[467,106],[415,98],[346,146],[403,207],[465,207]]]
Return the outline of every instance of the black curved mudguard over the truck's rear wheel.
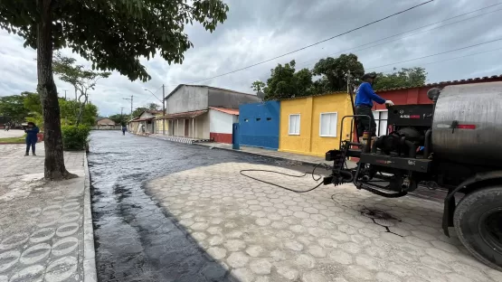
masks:
[[[442,230],[444,235],[450,237],[450,227],[453,227],[453,213],[455,211],[455,193],[459,192],[463,188],[467,188],[474,183],[479,183],[488,180],[501,179],[502,171],[493,171],[488,173],[476,174],[463,183],[460,183],[455,189],[449,191],[446,198],[444,198],[444,210],[442,214]]]

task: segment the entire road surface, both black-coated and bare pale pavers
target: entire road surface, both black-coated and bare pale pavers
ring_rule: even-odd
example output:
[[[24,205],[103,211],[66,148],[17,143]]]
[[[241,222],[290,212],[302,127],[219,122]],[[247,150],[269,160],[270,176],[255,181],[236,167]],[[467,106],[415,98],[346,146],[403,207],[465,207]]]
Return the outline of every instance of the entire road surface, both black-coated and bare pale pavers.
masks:
[[[119,132],[93,132],[90,150],[100,281],[502,281],[441,234],[440,202],[291,193],[239,172],[311,168]]]

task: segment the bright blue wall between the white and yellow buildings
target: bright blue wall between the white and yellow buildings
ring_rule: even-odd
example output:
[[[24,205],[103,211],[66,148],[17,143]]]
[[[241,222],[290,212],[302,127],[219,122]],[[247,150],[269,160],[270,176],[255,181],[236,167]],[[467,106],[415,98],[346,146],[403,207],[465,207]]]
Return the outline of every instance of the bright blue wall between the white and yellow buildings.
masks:
[[[277,150],[279,148],[279,114],[279,101],[241,105],[239,107],[241,145]]]

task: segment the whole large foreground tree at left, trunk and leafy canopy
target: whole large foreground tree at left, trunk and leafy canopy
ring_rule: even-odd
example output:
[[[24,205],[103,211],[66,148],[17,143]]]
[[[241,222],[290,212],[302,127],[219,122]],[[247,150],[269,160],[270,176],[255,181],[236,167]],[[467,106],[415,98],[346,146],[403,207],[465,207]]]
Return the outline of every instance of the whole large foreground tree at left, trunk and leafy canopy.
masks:
[[[118,71],[129,80],[149,80],[141,58],[154,55],[181,63],[193,47],[185,24],[210,32],[226,20],[221,0],[16,0],[0,1],[0,28],[37,50],[37,91],[46,129],[44,175],[77,177],[64,165],[60,105],[52,74],[54,50],[67,47],[92,61],[92,69]]]

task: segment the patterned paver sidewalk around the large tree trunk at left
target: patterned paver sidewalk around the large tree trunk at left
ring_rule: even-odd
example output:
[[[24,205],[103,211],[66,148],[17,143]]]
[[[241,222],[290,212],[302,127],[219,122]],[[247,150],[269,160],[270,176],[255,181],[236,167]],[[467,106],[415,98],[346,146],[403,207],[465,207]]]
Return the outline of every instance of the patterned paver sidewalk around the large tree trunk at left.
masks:
[[[82,281],[84,154],[64,153],[81,177],[45,182],[43,144],[24,148],[0,146],[0,282]]]

